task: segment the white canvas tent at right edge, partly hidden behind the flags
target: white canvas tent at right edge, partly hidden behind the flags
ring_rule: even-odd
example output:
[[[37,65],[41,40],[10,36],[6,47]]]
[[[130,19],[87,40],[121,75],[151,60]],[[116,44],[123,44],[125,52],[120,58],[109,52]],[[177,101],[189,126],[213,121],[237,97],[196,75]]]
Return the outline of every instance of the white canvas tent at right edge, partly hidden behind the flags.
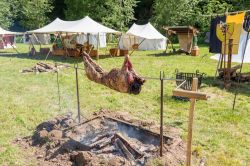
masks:
[[[247,32],[242,30],[241,36],[240,36],[240,43],[239,43],[239,50],[237,55],[232,55],[232,62],[236,63],[241,63],[243,54],[244,54],[244,49],[245,49],[245,44],[246,44],[246,38],[247,38]],[[215,54],[214,56],[211,56],[211,59],[219,61],[220,59],[220,54]],[[227,61],[227,56],[226,56],[226,61]],[[244,62],[243,63],[250,63],[250,39],[248,39],[247,42],[247,47],[246,47],[246,53],[244,56]]]

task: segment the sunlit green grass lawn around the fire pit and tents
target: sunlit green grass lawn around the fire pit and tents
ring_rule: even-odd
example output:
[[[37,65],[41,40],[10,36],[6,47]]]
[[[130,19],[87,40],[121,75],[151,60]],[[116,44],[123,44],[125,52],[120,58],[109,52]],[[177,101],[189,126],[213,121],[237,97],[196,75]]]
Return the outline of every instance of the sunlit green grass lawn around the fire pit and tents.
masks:
[[[22,150],[12,144],[17,137],[31,135],[36,125],[55,115],[72,111],[76,116],[75,71],[59,72],[61,110],[58,105],[57,76],[55,73],[22,74],[20,70],[32,67],[45,56],[28,57],[28,46],[18,44],[16,55],[10,50],[0,51],[0,165],[25,165]],[[250,165],[250,86],[242,84],[236,109],[232,110],[234,88],[224,90],[213,76],[217,62],[210,60],[208,47],[200,46],[201,55],[162,56],[162,51],[136,51],[131,56],[134,68],[147,77],[158,77],[161,70],[174,77],[175,69],[184,72],[199,70],[207,74],[200,91],[210,94],[208,101],[198,101],[195,111],[193,150],[198,157],[205,156],[210,166]],[[76,59],[52,57],[49,62],[74,65]],[[106,70],[121,67],[123,57],[101,58],[98,63]],[[80,64],[82,66],[82,64]],[[250,65],[244,66],[250,71]],[[80,71],[80,102],[83,116],[101,108],[127,111],[143,120],[159,122],[160,83],[147,80],[140,95],[128,95],[110,90],[89,81]],[[171,98],[174,81],[164,85],[164,124],[181,129],[187,136],[189,102]],[[32,164],[32,163],[28,163]]]

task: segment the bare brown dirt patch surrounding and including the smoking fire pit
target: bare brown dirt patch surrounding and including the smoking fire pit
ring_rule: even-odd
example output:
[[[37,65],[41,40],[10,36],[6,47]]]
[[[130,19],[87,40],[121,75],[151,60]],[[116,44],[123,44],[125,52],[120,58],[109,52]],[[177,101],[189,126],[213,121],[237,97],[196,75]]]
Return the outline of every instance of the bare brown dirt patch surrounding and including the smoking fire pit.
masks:
[[[15,143],[24,151],[34,150],[31,157],[38,165],[150,165],[159,157],[158,131],[155,122],[102,110],[80,124],[70,113],[58,116]],[[183,164],[185,150],[177,130],[164,133],[164,164]]]

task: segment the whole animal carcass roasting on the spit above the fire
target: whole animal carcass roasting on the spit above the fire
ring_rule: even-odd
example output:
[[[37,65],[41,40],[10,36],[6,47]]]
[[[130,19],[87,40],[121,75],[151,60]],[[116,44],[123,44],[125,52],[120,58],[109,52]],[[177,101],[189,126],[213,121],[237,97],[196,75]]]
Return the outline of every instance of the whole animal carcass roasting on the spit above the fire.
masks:
[[[86,52],[83,52],[83,62],[90,80],[122,93],[139,94],[145,82],[133,70],[128,55],[125,56],[121,69],[114,68],[110,72],[105,72]]]

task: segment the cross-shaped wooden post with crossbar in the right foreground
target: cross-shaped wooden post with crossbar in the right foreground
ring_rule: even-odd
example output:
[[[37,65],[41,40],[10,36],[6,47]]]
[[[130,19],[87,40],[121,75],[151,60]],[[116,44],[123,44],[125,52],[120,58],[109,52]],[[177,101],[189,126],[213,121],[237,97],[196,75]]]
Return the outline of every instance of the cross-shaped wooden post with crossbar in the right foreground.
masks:
[[[194,110],[195,110],[195,103],[196,99],[199,100],[207,100],[209,96],[205,93],[197,92],[198,89],[198,78],[193,78],[192,83],[192,91],[187,90],[178,90],[175,89],[173,91],[173,96],[180,96],[180,97],[188,97],[190,98],[190,109],[189,109],[189,116],[188,116],[188,138],[187,138],[187,159],[186,165],[191,166],[191,159],[192,159],[192,136],[193,136],[193,119],[194,119]]]

